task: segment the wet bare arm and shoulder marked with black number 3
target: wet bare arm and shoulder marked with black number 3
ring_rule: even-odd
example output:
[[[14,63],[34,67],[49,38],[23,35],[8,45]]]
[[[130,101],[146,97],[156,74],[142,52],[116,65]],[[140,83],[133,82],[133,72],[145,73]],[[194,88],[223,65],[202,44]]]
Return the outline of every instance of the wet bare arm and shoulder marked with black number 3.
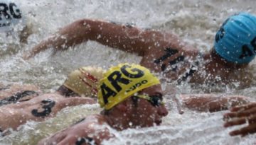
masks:
[[[21,103],[4,105],[0,107],[0,129],[16,129],[29,120],[43,121],[54,117],[65,107],[86,103],[95,103],[95,100],[81,97],[65,98],[58,93],[48,93]]]

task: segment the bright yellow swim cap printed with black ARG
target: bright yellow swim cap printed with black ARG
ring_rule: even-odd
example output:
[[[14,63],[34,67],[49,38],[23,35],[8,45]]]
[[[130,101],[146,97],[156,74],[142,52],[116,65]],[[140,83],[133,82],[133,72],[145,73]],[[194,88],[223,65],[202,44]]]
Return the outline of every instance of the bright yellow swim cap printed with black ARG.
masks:
[[[110,110],[129,96],[149,86],[159,84],[149,69],[138,64],[119,64],[110,68],[100,80],[98,101],[100,107]]]

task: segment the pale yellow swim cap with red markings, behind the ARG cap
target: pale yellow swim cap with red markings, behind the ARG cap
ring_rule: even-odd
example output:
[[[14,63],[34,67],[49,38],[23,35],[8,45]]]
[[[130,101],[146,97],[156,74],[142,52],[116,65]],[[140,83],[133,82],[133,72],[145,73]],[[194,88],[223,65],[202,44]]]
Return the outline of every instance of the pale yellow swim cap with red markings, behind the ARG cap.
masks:
[[[65,80],[64,86],[81,96],[97,96],[99,80],[103,70],[100,67],[86,66],[72,71]]]

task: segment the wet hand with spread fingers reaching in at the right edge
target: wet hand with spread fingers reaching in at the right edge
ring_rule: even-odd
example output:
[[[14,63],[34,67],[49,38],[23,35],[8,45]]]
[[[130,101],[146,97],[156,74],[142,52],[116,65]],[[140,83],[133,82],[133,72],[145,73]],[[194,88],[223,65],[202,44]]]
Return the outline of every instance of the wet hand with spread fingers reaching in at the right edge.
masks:
[[[230,136],[241,135],[243,137],[247,134],[253,134],[256,132],[256,103],[231,108],[230,112],[223,115],[223,118],[227,120],[224,127],[247,124],[245,127],[230,132]]]

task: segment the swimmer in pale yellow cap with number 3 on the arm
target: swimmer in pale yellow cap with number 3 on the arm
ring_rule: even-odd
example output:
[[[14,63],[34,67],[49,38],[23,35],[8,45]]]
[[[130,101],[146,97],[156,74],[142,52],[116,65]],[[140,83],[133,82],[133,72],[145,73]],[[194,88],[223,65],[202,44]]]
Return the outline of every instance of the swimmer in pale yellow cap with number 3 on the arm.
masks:
[[[27,121],[43,121],[54,117],[68,106],[92,104],[95,100],[95,86],[102,78],[102,69],[92,66],[71,72],[68,79],[55,93],[38,95],[26,101],[9,103],[0,107],[0,130],[16,130]]]

